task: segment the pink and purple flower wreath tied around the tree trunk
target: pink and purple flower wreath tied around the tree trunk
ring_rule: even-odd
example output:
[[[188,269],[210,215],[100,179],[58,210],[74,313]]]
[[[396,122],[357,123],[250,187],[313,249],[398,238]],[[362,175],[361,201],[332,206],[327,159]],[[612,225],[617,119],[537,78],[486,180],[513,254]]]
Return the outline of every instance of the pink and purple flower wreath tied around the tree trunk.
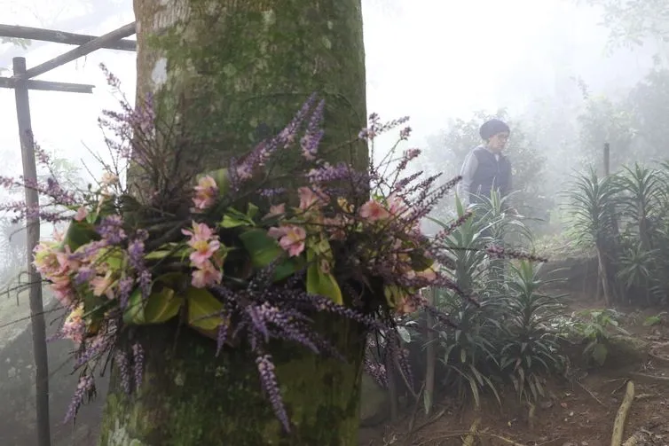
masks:
[[[112,85],[118,82],[107,75]],[[288,430],[268,340],[337,355],[311,328],[314,312],[374,330],[424,307],[419,292],[425,286],[457,290],[440,240],[468,215],[432,238],[420,223],[459,178],[437,185],[438,176],[409,173],[419,150],[397,154],[396,144],[365,171],[328,163],[320,144],[324,102],[313,96],[285,129],[240,159],[175,176],[178,157],[157,153],[167,149],[157,143],[150,98],[137,108],[122,105],[122,113],[106,112],[100,120],[115,133],[107,138],[114,164],[105,164],[96,186],[67,191],[54,176],[31,184],[2,179],[6,186],[34,187],[49,200],[41,209],[13,204],[20,208],[17,218],[35,213],[68,223],[67,231],[37,246],[34,258],[68,312],[59,337],[78,346],[75,368],[82,372],[68,419],[94,392],[93,374],[107,356],[128,392],[140,385],[146,346],[121,348],[123,328],[177,320],[216,341],[216,354],[248,340],[264,390]],[[383,123],[373,114],[347,144],[371,145],[374,159],[374,138],[399,127],[397,143],[405,141],[406,121]],[[122,179],[130,160],[137,182]],[[289,175],[277,173],[286,160]]]

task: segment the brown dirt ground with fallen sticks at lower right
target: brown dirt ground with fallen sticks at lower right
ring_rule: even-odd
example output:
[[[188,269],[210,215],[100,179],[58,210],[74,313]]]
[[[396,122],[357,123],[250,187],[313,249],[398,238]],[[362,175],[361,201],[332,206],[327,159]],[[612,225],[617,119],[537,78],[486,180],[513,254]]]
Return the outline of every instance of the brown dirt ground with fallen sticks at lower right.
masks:
[[[571,309],[601,308],[571,302]],[[547,383],[549,397],[536,407],[533,426],[523,406],[513,407],[509,395],[500,410],[497,403],[484,403],[479,411],[458,409],[457,402],[443,401],[430,419],[406,413],[392,426],[376,426],[360,431],[360,446],[437,446],[465,444],[463,439],[476,418],[476,442],[480,445],[512,446],[604,446],[611,442],[613,422],[625,394],[626,381],[632,379],[635,398],[628,414],[624,441],[638,435],[640,445],[669,444],[669,324],[644,326],[647,317],[660,309],[643,311],[618,309],[626,313],[622,326],[650,342],[655,355],[641,354],[623,364],[596,370],[577,370],[575,378]],[[653,375],[652,378],[648,375]],[[412,411],[408,411],[412,412]],[[413,423],[412,423],[413,418]],[[413,425],[413,428],[409,428]]]

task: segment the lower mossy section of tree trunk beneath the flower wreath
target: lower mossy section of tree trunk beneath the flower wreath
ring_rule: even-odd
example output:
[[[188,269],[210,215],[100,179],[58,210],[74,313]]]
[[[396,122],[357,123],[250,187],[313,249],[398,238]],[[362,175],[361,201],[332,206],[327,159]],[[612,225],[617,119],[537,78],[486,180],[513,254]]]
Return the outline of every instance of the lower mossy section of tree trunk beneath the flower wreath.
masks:
[[[358,441],[360,332],[330,321],[350,348],[347,362],[275,343],[279,386],[294,424],[284,434],[264,397],[255,357],[248,349],[215,358],[211,340],[173,325],[143,329],[146,372],[135,395],[119,390],[112,375],[100,444],[105,446],[354,445]],[[329,331],[329,330],[328,330]],[[344,334],[345,333],[345,334]]]

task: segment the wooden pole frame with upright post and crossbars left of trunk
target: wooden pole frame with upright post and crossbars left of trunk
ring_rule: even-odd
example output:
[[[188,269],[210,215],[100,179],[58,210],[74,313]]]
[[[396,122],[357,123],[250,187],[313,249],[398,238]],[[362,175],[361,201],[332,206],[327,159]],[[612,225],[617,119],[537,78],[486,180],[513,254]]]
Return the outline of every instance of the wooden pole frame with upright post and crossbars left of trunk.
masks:
[[[78,45],[75,49],[67,51],[60,56],[48,60],[36,67],[26,67],[25,58],[13,58],[12,77],[0,77],[0,88],[14,90],[16,98],[16,117],[19,123],[19,138],[21,145],[21,160],[23,164],[23,177],[26,182],[36,181],[37,169],[35,166],[35,140],[33,139],[32,123],[30,120],[29,90],[61,91],[66,93],[89,93],[93,92],[93,85],[48,82],[35,80],[34,77],[47,73],[53,68],[60,67],[79,59],[93,51],[101,48],[120,51],[137,51],[137,43],[132,40],[124,40],[125,37],[135,34],[135,22],[124,27],[95,37],[93,35],[79,35],[51,29],[35,27],[16,27],[0,25],[0,37],[14,37],[43,42],[64,43]],[[37,191],[25,188],[26,205],[28,208],[39,206]],[[42,302],[42,280],[35,266],[31,262],[33,250],[40,239],[39,215],[27,216],[26,228],[27,251],[28,251],[28,297],[30,301],[30,322],[33,332],[33,354],[35,356],[35,406],[37,415],[37,442],[38,446],[51,445],[51,423],[49,417],[49,364],[46,355],[46,325],[44,324],[43,302]]]

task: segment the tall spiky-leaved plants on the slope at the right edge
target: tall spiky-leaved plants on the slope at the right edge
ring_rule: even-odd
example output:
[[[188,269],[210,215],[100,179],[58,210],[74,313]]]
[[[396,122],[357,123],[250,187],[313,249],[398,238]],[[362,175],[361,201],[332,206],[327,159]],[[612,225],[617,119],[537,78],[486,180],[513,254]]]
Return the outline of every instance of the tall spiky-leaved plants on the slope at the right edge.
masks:
[[[599,178],[593,170],[576,177],[571,231],[581,246],[595,246],[613,267],[612,285],[628,301],[667,301],[669,286],[669,163],[634,163]]]

